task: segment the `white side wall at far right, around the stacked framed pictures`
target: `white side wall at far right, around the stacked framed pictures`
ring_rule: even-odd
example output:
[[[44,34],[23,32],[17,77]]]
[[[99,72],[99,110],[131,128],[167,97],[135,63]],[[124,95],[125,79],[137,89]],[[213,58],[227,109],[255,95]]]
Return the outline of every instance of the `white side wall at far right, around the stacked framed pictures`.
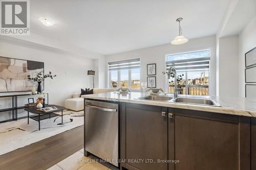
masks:
[[[256,46],[256,16],[239,34],[238,88],[239,96],[245,97],[245,53]],[[256,73],[255,73],[256,74]]]

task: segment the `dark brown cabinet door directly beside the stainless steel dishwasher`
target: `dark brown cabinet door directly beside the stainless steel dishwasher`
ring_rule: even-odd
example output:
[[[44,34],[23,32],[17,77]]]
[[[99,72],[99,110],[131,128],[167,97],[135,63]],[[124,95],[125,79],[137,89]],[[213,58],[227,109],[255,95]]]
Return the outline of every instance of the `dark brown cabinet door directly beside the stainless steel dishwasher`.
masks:
[[[168,169],[167,163],[157,163],[158,159],[168,158],[167,116],[163,116],[162,111],[159,106],[130,103],[125,104],[125,110],[122,108],[122,119],[125,116],[125,122],[122,121],[122,127],[125,124],[125,128],[122,128],[122,133],[125,133],[122,137],[122,140],[125,138],[125,151],[122,149],[121,155],[122,159],[125,157],[127,160],[127,169]],[[167,108],[165,112],[167,114]],[[132,160],[143,162],[129,162]]]

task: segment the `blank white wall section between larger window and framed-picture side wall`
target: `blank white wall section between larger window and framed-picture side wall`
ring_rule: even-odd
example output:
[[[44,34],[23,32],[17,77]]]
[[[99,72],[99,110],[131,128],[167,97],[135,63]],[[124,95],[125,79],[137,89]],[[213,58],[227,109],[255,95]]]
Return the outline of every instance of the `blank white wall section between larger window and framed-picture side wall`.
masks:
[[[239,38],[229,36],[219,38],[218,42],[218,84],[219,96],[238,96],[238,56]]]

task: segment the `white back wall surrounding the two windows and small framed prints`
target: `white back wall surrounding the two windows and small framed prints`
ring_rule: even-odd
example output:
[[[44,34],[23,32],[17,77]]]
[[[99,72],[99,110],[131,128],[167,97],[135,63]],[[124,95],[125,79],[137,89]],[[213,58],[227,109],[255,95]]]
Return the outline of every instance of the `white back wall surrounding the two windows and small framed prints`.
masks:
[[[190,39],[187,43],[182,45],[172,45],[170,43],[142,48],[139,50],[114,54],[106,56],[106,62],[118,61],[124,59],[140,58],[140,80],[146,81],[147,72],[146,65],[156,63],[157,68],[157,87],[165,89],[166,81],[165,75],[162,71],[165,70],[165,54],[181,53],[186,51],[201,50],[204,48],[211,48],[211,72],[210,72],[210,94],[216,94],[216,37],[207,36],[197,39]],[[106,74],[108,77],[108,74]]]

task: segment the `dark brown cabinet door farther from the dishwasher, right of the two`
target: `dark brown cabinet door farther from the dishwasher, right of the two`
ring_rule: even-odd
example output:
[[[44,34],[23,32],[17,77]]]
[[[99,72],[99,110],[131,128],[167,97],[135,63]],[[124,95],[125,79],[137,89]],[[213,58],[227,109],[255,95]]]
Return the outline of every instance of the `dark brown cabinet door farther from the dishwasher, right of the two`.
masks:
[[[250,169],[250,118],[169,109],[169,170]]]

